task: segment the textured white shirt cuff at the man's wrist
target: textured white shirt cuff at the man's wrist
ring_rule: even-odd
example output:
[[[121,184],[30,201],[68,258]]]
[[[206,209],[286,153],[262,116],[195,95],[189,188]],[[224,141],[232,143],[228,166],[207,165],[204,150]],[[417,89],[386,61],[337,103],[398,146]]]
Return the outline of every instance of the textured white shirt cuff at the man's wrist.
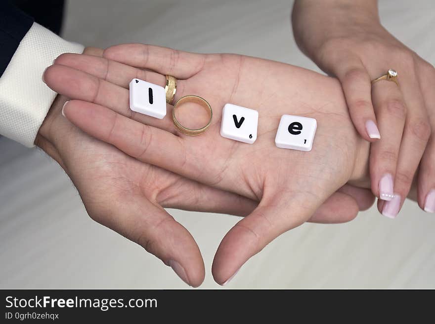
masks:
[[[0,78],[0,134],[27,147],[34,141],[56,93],[42,81],[46,67],[62,53],[82,53],[83,45],[68,42],[34,23],[21,40]]]

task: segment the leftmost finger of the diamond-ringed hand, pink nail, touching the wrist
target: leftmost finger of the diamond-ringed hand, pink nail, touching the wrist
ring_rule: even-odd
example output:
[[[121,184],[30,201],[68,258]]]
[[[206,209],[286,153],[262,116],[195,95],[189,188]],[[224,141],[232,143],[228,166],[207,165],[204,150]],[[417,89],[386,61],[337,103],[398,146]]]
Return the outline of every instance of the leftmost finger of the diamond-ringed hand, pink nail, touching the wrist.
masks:
[[[371,81],[365,67],[359,59],[346,59],[338,62],[335,70],[356,130],[366,141],[379,140],[381,135],[372,105]]]

